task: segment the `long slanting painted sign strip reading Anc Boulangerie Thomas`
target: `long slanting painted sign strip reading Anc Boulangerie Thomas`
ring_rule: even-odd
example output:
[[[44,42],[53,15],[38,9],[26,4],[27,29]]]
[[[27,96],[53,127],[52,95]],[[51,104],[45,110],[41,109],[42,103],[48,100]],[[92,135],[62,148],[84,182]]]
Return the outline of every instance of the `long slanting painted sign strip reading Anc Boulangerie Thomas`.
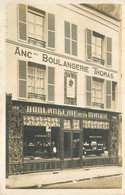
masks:
[[[41,53],[37,52],[34,53],[32,50],[28,50],[23,47],[16,46],[14,49],[14,54],[17,56],[25,57],[27,59],[33,59],[36,60],[36,62],[39,60],[39,63],[41,61],[41,64],[52,64],[54,66],[60,66],[64,68],[68,68],[70,70],[74,71],[80,71],[89,73],[91,76],[98,76],[100,78],[109,78],[113,80],[117,80],[117,74],[114,74],[111,71],[108,71],[106,69],[97,68],[96,66],[88,66],[83,63],[76,62],[76,60],[68,60],[66,58],[59,57],[56,54],[47,54],[47,53]]]

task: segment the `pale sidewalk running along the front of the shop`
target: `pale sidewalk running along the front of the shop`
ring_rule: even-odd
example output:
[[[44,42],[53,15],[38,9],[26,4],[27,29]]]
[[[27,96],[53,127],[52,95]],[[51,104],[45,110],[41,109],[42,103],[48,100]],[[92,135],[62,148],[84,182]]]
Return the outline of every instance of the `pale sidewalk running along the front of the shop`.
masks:
[[[122,167],[103,166],[60,171],[12,175],[6,179],[6,188],[37,188],[57,183],[75,182],[122,174]]]

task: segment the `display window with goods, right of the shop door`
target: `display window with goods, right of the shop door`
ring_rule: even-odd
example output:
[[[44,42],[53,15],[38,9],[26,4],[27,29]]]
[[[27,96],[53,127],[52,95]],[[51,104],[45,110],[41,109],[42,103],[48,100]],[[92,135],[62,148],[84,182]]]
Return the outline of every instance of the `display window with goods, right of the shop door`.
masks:
[[[102,129],[83,130],[83,157],[106,157],[109,153],[109,131]]]

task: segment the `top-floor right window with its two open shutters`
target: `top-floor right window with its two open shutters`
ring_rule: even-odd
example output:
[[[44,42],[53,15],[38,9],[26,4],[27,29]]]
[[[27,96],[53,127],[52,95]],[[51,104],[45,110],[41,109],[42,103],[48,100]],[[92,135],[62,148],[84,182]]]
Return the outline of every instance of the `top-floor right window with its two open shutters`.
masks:
[[[101,65],[112,65],[112,39],[86,29],[86,57]]]

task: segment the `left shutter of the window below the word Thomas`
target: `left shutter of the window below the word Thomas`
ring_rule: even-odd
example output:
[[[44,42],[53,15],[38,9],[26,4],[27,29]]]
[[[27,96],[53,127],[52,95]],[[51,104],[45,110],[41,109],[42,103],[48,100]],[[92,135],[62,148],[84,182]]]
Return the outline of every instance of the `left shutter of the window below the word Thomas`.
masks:
[[[91,106],[91,77],[86,76],[86,105]]]

